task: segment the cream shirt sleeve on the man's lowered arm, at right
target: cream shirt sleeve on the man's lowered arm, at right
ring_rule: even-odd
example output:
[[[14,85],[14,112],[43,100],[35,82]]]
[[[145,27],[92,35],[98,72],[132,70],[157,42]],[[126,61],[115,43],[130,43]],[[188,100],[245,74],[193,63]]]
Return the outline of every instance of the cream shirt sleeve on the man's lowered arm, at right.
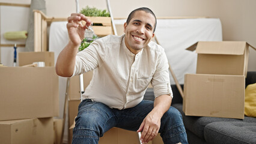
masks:
[[[169,80],[169,64],[164,51],[157,59],[156,71],[151,80],[151,85],[154,89],[155,98],[160,95],[170,95],[173,97]]]

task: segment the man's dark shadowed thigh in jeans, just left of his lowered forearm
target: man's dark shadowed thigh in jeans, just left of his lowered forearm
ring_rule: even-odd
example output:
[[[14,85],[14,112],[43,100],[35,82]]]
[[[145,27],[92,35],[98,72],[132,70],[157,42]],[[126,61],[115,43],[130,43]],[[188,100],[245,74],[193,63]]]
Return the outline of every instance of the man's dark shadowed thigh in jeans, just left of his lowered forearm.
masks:
[[[126,130],[136,131],[144,118],[154,107],[154,101],[142,100],[137,106],[120,110],[117,116],[117,126]]]

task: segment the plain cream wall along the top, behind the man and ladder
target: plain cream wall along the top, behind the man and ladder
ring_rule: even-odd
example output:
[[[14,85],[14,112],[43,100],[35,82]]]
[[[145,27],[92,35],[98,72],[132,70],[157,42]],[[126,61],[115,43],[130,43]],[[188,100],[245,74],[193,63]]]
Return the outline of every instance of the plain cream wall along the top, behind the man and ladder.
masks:
[[[207,16],[222,22],[223,40],[248,41],[256,47],[256,1],[254,0],[109,0],[114,17],[127,17],[138,7],[149,7],[157,17]],[[30,4],[31,0],[0,0]],[[86,5],[106,9],[106,1],[80,0],[80,9]],[[68,17],[76,12],[76,0],[46,0],[47,16]],[[256,52],[249,54],[249,71],[256,71]]]

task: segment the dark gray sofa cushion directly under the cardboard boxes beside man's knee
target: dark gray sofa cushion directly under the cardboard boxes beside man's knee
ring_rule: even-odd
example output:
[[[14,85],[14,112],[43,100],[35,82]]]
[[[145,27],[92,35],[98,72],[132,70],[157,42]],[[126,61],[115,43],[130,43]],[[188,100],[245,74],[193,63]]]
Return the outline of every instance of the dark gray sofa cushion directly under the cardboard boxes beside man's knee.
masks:
[[[256,118],[245,116],[245,119],[232,118],[215,118],[206,116],[186,116],[182,110],[182,104],[172,104],[173,107],[180,111],[183,117],[183,123],[187,130],[204,139],[204,127],[212,122],[239,121],[239,122],[256,122]]]

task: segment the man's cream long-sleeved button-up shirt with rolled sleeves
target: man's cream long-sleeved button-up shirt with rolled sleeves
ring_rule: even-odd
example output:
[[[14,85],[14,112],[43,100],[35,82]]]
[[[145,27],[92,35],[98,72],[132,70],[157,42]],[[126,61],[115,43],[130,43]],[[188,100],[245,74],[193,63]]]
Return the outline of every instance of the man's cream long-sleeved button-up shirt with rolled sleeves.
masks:
[[[83,99],[127,109],[142,101],[150,82],[155,98],[172,97],[168,68],[164,49],[153,41],[135,55],[126,47],[124,35],[108,35],[77,54],[73,76],[93,70]]]

